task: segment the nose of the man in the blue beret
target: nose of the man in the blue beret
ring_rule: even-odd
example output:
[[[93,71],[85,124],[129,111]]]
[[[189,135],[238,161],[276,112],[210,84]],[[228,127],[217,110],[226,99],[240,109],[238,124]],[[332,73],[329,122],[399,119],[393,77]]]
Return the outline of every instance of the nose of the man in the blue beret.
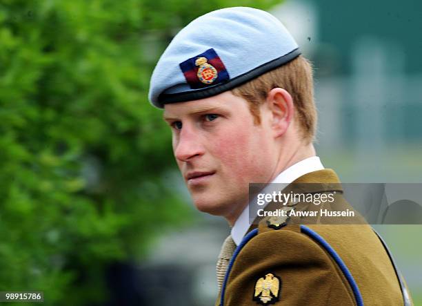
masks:
[[[189,128],[183,128],[174,146],[174,156],[181,162],[188,162],[193,157],[203,155],[201,137]]]

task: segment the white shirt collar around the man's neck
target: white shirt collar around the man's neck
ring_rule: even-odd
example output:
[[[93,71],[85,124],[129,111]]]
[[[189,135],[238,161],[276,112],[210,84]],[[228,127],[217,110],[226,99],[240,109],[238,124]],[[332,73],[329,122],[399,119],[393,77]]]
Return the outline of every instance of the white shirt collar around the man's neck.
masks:
[[[308,157],[305,158],[305,160],[301,160],[300,162],[290,166],[288,169],[285,169],[277,175],[276,178],[274,178],[272,183],[290,184],[306,173],[322,169],[324,169],[324,166],[318,156]],[[249,227],[249,206],[246,205],[245,209],[243,209],[239,218],[237,218],[236,222],[234,222],[234,226],[232,227],[232,238],[236,245],[240,244]]]

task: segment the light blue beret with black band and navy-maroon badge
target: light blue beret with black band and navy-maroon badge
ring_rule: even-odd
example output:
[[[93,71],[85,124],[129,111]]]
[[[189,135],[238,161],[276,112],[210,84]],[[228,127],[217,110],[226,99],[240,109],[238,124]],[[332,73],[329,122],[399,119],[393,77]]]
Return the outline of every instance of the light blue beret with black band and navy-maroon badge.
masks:
[[[299,56],[292,35],[255,8],[214,10],[185,26],[161,55],[150,81],[150,102],[203,99],[230,90]]]

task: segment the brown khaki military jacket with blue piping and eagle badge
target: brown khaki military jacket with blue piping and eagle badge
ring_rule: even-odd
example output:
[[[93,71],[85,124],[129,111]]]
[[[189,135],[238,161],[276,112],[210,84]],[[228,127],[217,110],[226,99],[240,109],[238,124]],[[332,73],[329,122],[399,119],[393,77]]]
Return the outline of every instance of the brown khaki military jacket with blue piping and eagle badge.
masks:
[[[311,192],[336,191],[324,209],[352,209],[331,169],[293,183],[318,183]],[[413,305],[383,242],[361,216],[350,224],[305,221],[274,229],[264,218],[252,225],[234,252],[216,305]]]

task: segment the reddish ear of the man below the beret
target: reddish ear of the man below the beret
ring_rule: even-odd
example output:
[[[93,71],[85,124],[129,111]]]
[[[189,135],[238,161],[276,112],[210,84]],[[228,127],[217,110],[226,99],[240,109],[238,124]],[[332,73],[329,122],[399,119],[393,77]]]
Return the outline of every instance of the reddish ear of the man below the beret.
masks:
[[[293,98],[283,88],[272,88],[267,97],[268,108],[272,113],[272,130],[275,137],[280,137],[287,131],[294,114]]]

